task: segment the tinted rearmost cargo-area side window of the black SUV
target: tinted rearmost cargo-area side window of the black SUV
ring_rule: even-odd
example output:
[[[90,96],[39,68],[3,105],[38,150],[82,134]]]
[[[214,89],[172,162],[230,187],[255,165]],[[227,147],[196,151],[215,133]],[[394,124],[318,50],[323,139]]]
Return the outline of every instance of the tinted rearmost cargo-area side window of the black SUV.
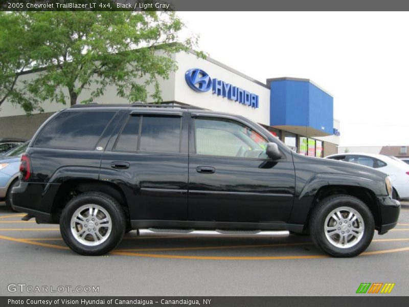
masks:
[[[115,112],[61,112],[37,137],[35,147],[94,150]]]

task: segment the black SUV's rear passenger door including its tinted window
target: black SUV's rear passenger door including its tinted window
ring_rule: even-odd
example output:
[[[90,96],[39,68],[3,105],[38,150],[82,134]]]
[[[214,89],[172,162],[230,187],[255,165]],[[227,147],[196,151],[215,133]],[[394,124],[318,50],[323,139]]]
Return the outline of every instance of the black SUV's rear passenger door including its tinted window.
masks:
[[[100,180],[121,186],[131,220],[187,220],[187,121],[183,129],[182,113],[151,113],[128,116],[104,152]]]

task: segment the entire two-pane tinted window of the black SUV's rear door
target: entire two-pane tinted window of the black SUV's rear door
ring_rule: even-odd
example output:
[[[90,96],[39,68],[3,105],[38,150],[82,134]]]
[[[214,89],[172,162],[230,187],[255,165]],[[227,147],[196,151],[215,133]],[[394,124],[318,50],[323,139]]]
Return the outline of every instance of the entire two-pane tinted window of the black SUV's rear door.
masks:
[[[131,116],[115,150],[180,152],[181,117]]]

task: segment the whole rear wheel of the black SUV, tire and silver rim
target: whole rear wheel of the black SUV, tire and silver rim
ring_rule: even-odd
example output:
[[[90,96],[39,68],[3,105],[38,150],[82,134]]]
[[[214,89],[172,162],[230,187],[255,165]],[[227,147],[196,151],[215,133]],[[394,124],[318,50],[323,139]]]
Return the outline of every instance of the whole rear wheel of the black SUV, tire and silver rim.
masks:
[[[108,253],[125,233],[125,213],[111,196],[86,192],[72,199],[64,208],[60,231],[66,245],[81,255]]]

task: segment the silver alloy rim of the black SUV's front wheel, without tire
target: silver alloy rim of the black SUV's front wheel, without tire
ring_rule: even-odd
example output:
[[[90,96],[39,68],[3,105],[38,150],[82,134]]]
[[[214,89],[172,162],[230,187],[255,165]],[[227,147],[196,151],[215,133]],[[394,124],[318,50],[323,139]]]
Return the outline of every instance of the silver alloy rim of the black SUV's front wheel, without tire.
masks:
[[[338,248],[355,246],[361,240],[364,230],[362,216],[351,207],[336,208],[325,219],[325,236],[329,243]]]

